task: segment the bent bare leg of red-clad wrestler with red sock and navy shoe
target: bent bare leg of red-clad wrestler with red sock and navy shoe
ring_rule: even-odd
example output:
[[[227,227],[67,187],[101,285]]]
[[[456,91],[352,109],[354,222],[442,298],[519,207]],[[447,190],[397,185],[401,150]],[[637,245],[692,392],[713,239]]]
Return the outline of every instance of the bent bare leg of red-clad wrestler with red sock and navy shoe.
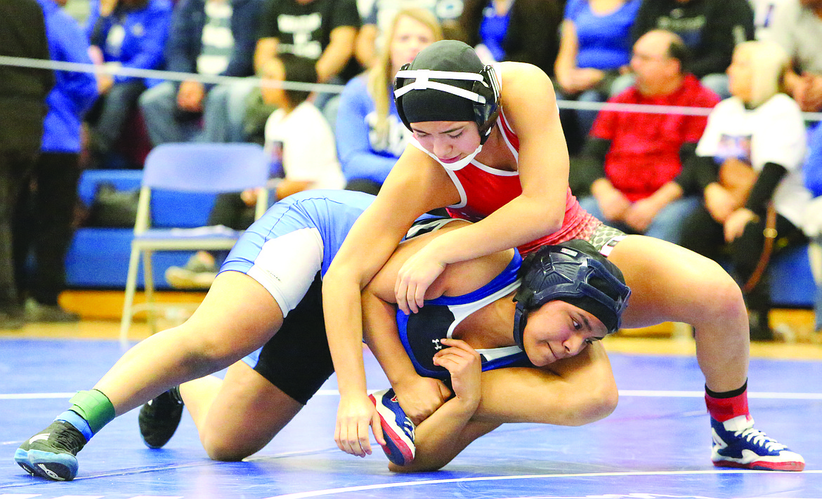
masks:
[[[736,282],[712,260],[663,240],[626,236],[608,259],[632,295],[624,327],[663,321],[695,328],[716,466],[801,471],[802,456],[754,428],[748,410],[748,318]]]

